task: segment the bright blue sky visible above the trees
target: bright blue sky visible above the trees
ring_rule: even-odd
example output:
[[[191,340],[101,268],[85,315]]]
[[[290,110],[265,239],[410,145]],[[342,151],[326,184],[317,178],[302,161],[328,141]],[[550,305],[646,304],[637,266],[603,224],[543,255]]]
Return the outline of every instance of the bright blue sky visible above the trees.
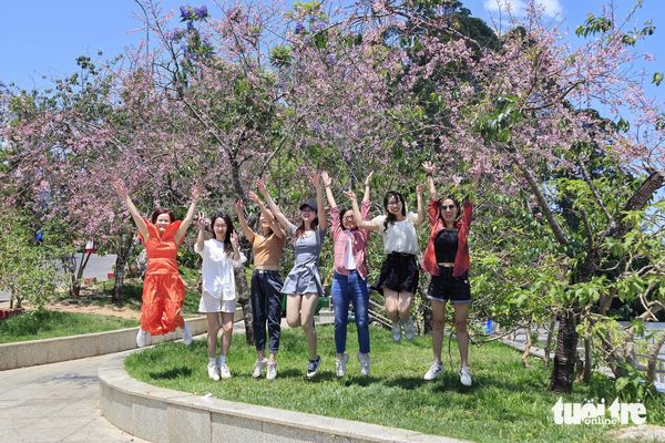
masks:
[[[507,0],[462,0],[473,16],[492,22],[498,18],[497,2]],[[511,1],[516,9],[523,0]],[[549,19],[559,20],[569,28],[571,39],[574,29],[584,21],[589,12],[600,13],[604,0],[539,0],[550,13]],[[184,0],[165,0],[164,9],[176,9]],[[223,3],[223,1],[222,1]],[[632,4],[631,0],[616,0],[617,4]],[[191,4],[207,4],[214,17],[218,8],[212,0],[196,0]],[[14,82],[22,89],[47,87],[50,79],[60,78],[76,71],[75,59],[81,54],[98,58],[112,58],[124,52],[124,48],[141,40],[141,22],[134,17],[141,10],[132,0],[32,0],[30,11],[25,3],[6,1],[2,4],[0,21],[0,81]],[[644,0],[644,7],[636,16],[642,23],[652,19],[656,33],[641,47],[653,53],[655,63],[646,69],[665,71],[665,4],[663,0]],[[661,42],[661,44],[658,44]],[[651,78],[651,74],[649,74]],[[649,86],[652,93],[665,97],[665,83],[661,87]]]

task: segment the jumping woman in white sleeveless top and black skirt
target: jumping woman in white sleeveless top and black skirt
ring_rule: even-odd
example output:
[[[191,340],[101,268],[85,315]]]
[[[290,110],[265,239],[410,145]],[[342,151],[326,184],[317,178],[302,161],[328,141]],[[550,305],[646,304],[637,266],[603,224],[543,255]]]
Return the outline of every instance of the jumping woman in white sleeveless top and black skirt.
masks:
[[[411,318],[411,299],[418,289],[419,269],[416,260],[418,255],[418,237],[416,227],[426,220],[422,192],[424,185],[416,187],[418,198],[418,214],[407,213],[405,197],[398,192],[389,190],[383,197],[385,215],[364,220],[358,207],[356,195],[351,192],[347,196],[354,207],[354,217],[359,229],[378,231],[383,238],[383,253],[386,259],[381,265],[379,280],[371,286],[372,289],[383,293],[386,298],[386,315],[392,321],[392,339],[399,341],[402,336],[413,340],[416,324]]]

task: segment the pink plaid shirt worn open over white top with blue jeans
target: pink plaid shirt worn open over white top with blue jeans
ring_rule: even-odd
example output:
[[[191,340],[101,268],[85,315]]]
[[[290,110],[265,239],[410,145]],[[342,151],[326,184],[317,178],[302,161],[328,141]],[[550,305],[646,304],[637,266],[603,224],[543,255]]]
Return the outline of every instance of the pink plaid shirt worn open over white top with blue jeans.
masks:
[[[362,202],[360,205],[360,213],[362,219],[369,219],[369,202]],[[339,208],[334,207],[330,209],[330,222],[332,224],[332,241],[335,244],[335,271],[342,276],[348,276],[349,270],[345,268],[345,262],[348,254],[349,236],[352,237],[354,244],[354,259],[356,260],[356,269],[362,279],[367,278],[367,240],[369,240],[369,230],[367,229],[355,229],[344,230],[341,227],[341,220],[339,219]]]

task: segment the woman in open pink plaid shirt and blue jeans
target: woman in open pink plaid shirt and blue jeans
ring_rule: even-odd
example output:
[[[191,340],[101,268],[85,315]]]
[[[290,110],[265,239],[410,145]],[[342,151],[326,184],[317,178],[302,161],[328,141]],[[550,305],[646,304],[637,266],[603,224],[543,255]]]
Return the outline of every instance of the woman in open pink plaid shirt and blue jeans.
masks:
[[[361,213],[364,219],[369,219],[369,183],[372,173],[365,179],[365,197],[362,198]],[[321,173],[326,187],[326,197],[330,206],[330,220],[332,241],[335,244],[335,276],[332,279],[332,305],[335,306],[335,347],[337,360],[335,371],[337,377],[346,374],[349,356],[345,353],[347,338],[347,320],[349,305],[354,303],[356,328],[358,329],[358,346],[360,352],[360,373],[369,375],[369,290],[367,288],[367,240],[369,230],[358,229],[354,210],[339,209],[330,187],[332,181],[327,172]]]

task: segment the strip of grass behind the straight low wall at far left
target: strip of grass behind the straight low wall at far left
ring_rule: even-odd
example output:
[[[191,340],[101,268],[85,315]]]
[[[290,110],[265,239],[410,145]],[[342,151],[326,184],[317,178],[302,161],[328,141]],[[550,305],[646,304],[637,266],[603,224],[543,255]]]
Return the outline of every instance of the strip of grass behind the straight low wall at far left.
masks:
[[[28,311],[0,320],[0,343],[112,331],[139,326],[136,320],[58,311]]]

